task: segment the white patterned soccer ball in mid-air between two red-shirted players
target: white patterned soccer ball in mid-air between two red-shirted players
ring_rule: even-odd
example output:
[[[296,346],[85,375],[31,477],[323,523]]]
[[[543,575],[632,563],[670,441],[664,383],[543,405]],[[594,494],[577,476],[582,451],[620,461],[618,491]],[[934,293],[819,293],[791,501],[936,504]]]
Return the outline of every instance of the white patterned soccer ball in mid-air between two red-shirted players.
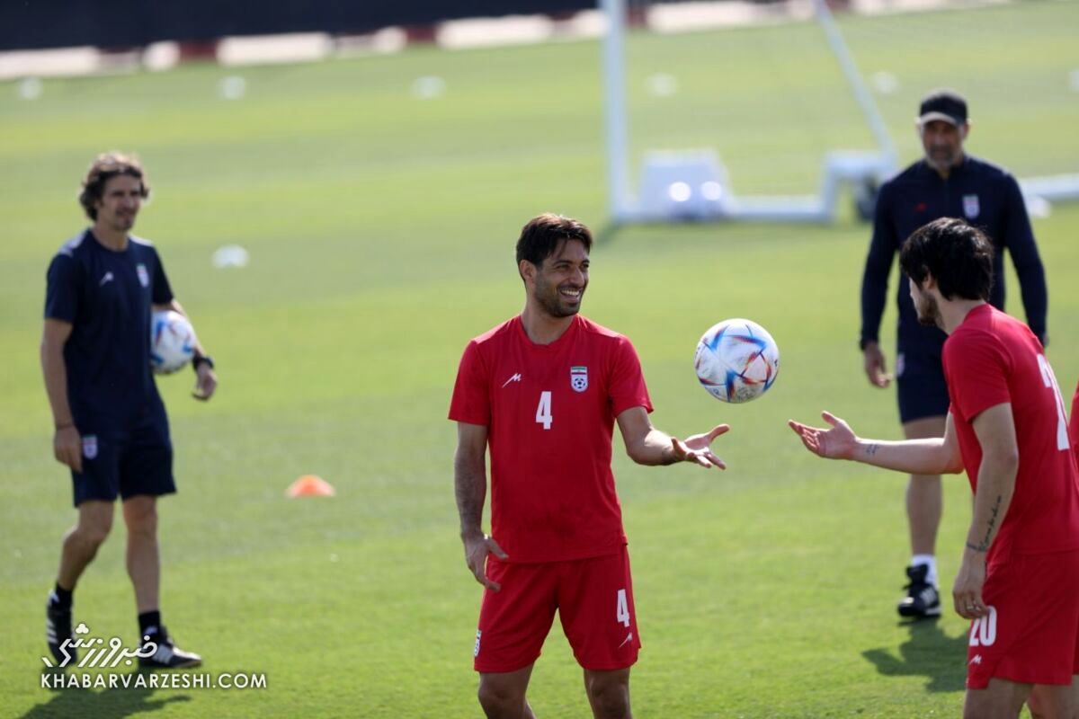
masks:
[[[748,319],[725,319],[709,328],[694,356],[697,378],[724,402],[749,402],[779,374],[779,347],[768,331]]]

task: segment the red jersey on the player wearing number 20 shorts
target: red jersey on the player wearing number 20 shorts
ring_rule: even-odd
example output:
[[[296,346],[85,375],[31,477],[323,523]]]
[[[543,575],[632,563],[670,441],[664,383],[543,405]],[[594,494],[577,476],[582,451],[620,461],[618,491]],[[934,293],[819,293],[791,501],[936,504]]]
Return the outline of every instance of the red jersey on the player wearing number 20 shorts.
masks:
[[[1015,492],[988,561],[1079,548],[1079,478],[1064,400],[1037,337],[1017,319],[981,305],[948,336],[943,360],[959,451],[975,492],[982,446],[974,418],[1010,402],[1015,420]]]

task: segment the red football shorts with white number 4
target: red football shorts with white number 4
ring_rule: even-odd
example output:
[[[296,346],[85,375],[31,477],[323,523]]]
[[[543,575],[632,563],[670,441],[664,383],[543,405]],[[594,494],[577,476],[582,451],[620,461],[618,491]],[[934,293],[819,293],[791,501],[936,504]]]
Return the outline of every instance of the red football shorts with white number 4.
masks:
[[[487,576],[502,585],[483,591],[476,632],[477,672],[516,672],[536,661],[555,621],[586,669],[622,669],[637,662],[637,633],[629,552],[550,562],[514,564],[492,557]]]

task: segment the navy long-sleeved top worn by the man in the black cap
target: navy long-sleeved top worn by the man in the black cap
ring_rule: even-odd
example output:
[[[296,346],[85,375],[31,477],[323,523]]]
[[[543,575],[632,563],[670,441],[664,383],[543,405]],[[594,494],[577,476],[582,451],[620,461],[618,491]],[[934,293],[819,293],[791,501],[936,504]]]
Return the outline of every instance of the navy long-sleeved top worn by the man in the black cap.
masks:
[[[873,239],[862,277],[863,342],[878,340],[880,318],[888,294],[888,274],[896,253],[906,238],[924,224],[943,217],[962,218],[988,236],[996,250],[993,258],[993,289],[989,303],[1005,308],[1005,263],[1007,249],[1019,275],[1030,330],[1044,343],[1048,291],[1046,273],[1034,241],[1034,231],[1019,183],[1007,170],[967,156],[953,167],[947,179],[921,160],[880,186]],[[935,327],[918,323],[911,300],[910,280],[900,271],[899,349],[935,348],[939,354],[947,336]]]

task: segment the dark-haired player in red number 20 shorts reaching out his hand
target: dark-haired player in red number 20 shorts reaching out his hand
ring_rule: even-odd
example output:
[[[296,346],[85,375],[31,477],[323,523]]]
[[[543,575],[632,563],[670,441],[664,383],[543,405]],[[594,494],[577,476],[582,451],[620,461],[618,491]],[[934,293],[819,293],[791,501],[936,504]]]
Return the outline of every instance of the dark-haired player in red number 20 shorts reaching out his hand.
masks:
[[[951,407],[942,439],[858,438],[791,420],[822,456],[909,472],[967,470],[974,512],[952,598],[971,620],[964,715],[1079,716],[1079,488],[1064,400],[1041,343],[989,305],[993,247],[944,218],[900,254],[918,320],[948,334]]]

